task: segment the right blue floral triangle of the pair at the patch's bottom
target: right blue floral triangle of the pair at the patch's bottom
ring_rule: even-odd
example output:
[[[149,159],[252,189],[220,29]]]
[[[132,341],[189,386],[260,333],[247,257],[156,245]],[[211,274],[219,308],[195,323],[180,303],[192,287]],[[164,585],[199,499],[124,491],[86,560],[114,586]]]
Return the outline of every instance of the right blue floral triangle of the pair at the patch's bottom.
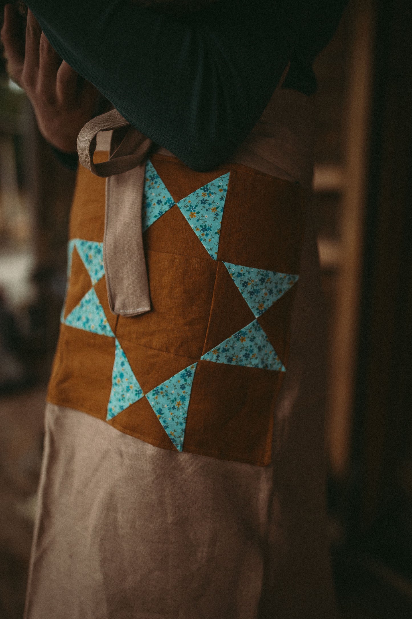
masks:
[[[156,417],[179,451],[183,449],[187,409],[196,366],[197,363],[193,363],[146,394]]]

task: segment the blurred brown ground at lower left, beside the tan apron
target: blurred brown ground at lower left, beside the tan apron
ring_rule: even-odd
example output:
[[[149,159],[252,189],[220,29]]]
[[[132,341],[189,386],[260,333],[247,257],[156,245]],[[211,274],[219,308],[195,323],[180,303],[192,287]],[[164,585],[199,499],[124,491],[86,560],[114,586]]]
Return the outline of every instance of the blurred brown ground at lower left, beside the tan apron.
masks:
[[[0,399],[0,619],[21,619],[43,443],[45,387]]]

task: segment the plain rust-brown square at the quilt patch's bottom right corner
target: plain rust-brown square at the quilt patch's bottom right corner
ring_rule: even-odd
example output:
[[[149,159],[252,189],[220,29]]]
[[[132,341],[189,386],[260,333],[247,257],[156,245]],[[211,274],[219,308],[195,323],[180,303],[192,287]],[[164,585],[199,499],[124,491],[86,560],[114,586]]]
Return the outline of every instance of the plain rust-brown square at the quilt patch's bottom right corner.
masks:
[[[199,361],[183,451],[269,464],[272,403],[281,380],[270,370]]]

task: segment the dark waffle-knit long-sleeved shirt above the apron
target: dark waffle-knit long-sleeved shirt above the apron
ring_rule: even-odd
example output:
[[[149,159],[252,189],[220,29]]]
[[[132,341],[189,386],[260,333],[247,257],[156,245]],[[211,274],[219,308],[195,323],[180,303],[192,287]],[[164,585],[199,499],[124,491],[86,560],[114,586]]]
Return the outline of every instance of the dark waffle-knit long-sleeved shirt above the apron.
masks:
[[[156,144],[216,167],[311,69],[347,0],[220,0],[183,17],[128,0],[27,0],[57,53]]]

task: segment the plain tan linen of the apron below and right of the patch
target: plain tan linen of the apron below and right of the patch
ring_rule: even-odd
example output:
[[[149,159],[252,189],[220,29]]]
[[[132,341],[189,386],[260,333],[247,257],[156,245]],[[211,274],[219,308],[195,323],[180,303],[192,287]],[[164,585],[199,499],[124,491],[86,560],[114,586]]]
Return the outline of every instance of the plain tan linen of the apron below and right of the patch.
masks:
[[[313,231],[268,467],[155,448],[48,405],[25,619],[332,619]]]

